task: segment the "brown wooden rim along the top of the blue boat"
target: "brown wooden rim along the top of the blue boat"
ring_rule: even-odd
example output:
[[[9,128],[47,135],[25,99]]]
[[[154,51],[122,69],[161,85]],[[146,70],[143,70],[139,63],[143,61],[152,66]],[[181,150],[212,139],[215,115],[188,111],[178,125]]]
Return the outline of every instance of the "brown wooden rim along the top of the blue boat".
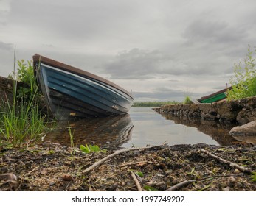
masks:
[[[77,74],[77,75],[80,75],[80,76],[83,76],[83,77],[89,77],[91,79],[95,79],[97,81],[103,82],[107,85],[110,85],[111,87],[114,87],[118,90],[121,90],[123,93],[127,94],[132,99],[134,99],[134,97],[131,95],[131,93],[129,93],[124,88],[121,88],[119,85],[116,85],[114,82],[111,82],[108,79],[104,79],[103,77],[99,77],[95,74],[91,74],[88,71],[81,70],[80,68],[76,68],[72,65],[67,65],[65,63],[60,63],[56,60],[49,59],[48,57],[44,57],[40,54],[35,54],[33,56],[34,67],[35,67],[36,63],[39,63],[39,62],[44,63],[46,65],[50,65],[50,66],[55,67],[55,68],[59,68],[60,70],[63,70],[63,71],[68,71],[68,72],[71,72],[73,74]]]

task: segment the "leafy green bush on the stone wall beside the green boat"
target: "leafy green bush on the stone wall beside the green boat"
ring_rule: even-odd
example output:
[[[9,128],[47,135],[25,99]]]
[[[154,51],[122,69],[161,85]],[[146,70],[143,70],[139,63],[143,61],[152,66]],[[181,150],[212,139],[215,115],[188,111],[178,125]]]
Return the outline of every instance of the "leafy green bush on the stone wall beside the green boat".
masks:
[[[238,63],[234,65],[234,77],[230,79],[232,85],[231,90],[227,90],[226,96],[228,100],[243,99],[249,96],[256,96],[256,68],[255,58],[248,46],[248,54],[243,65]]]

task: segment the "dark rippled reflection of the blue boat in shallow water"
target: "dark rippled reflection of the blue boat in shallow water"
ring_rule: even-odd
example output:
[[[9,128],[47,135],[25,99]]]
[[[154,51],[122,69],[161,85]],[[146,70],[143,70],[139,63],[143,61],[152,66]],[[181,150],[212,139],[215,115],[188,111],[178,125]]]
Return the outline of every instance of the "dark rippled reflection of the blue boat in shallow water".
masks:
[[[60,121],[58,129],[51,132],[45,141],[59,142],[70,146],[68,127],[74,131],[75,146],[97,144],[101,148],[116,149],[131,140],[134,125],[129,114],[101,118],[83,118],[77,121]]]

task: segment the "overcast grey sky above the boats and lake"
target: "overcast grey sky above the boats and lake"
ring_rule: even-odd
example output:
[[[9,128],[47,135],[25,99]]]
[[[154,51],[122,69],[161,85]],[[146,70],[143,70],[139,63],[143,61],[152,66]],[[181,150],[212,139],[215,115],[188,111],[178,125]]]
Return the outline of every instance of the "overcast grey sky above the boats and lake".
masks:
[[[255,0],[0,0],[0,76],[35,53],[133,90],[135,101],[226,87],[256,46]]]

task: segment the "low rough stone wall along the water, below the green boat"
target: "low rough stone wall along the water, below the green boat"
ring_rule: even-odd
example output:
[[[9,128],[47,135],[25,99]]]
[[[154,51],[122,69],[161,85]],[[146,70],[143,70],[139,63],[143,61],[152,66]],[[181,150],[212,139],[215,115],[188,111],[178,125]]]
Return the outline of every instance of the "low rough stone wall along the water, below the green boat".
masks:
[[[209,104],[170,104],[155,110],[173,116],[243,125],[256,120],[256,97]]]

